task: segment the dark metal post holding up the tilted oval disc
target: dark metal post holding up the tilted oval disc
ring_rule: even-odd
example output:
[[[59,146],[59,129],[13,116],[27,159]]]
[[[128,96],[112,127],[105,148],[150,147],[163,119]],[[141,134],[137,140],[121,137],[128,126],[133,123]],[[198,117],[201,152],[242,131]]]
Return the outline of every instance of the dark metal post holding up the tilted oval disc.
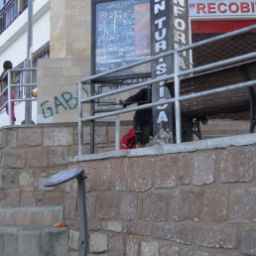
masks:
[[[85,181],[84,171],[77,177],[78,183],[78,210],[79,210],[79,229],[80,229],[80,256],[87,256],[87,213],[85,201]]]

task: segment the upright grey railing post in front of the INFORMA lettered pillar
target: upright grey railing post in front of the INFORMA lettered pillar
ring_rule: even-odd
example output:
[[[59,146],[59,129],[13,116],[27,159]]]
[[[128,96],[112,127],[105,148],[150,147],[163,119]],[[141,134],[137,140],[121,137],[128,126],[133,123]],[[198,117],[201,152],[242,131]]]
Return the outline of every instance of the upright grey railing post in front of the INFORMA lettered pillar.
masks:
[[[182,125],[181,125],[181,104],[180,104],[180,77],[179,77],[179,53],[174,54],[175,66],[175,120],[176,120],[176,143],[182,142]]]

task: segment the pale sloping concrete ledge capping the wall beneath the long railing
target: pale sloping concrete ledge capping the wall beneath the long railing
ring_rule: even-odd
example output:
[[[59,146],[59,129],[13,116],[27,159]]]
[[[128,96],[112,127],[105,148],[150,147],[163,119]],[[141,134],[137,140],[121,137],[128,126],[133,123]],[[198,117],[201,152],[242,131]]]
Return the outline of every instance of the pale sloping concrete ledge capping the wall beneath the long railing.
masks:
[[[246,145],[256,144],[256,133],[236,135],[231,137],[222,137],[216,139],[208,139],[201,141],[185,142],[181,144],[170,144],[170,145],[156,145],[144,149],[133,149],[133,150],[119,150],[103,152],[92,155],[82,155],[69,158],[69,162],[99,160],[106,158],[117,158],[117,157],[140,157],[140,156],[156,156],[165,155],[172,153],[185,153],[196,150],[216,149],[216,148],[228,148],[228,147],[240,147]]]

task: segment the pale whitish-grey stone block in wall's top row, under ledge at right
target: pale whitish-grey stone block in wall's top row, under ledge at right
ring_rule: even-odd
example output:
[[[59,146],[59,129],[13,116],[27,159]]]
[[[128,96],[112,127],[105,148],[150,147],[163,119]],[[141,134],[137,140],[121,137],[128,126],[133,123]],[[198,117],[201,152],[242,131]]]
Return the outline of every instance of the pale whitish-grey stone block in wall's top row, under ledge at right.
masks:
[[[215,153],[199,152],[192,155],[192,184],[206,185],[214,182]]]

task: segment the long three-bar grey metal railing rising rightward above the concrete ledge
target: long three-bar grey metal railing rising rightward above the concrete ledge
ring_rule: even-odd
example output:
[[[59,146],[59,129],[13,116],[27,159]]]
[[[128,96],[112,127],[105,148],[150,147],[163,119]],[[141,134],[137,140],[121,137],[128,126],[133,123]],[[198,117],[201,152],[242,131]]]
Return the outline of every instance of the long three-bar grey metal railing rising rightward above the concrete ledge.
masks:
[[[177,143],[181,143],[182,142],[182,125],[181,125],[181,101],[184,100],[190,100],[193,98],[197,98],[197,97],[203,97],[206,95],[210,95],[210,94],[215,94],[215,93],[220,93],[220,92],[224,92],[224,91],[229,91],[229,90],[233,90],[233,89],[237,89],[237,88],[241,88],[241,87],[249,87],[252,85],[256,85],[256,80],[250,80],[250,81],[245,81],[245,82],[241,82],[241,83],[237,83],[237,84],[233,84],[233,85],[227,85],[227,86],[223,86],[223,87],[219,87],[219,88],[214,88],[214,89],[209,89],[209,90],[204,90],[204,91],[200,91],[200,92],[196,92],[196,93],[191,93],[191,94],[187,94],[187,95],[181,95],[180,94],[180,79],[182,78],[182,76],[187,76],[188,75],[192,75],[193,73],[198,73],[198,72],[202,72],[202,71],[207,71],[213,68],[217,68],[217,67],[223,67],[224,65],[227,64],[237,64],[239,62],[246,62],[248,60],[255,60],[256,59],[256,52],[254,53],[250,53],[250,54],[246,54],[243,56],[239,56],[239,57],[235,57],[235,58],[231,58],[231,59],[227,59],[224,61],[220,61],[220,62],[216,62],[213,64],[205,64],[205,65],[200,65],[194,68],[190,68],[187,70],[183,70],[181,71],[179,68],[179,54],[185,52],[185,51],[191,51],[194,48],[206,45],[206,44],[210,44],[210,43],[214,43],[216,41],[220,41],[220,40],[224,40],[226,38],[230,38],[230,37],[234,37],[234,36],[238,36],[244,33],[248,33],[250,31],[254,31],[256,30],[256,25],[253,26],[249,26],[247,28],[243,28],[237,31],[233,31],[230,33],[226,33],[220,36],[216,36],[214,38],[210,38],[207,40],[203,40],[197,43],[193,43],[191,45],[187,45],[181,48],[178,48],[176,50],[171,50],[169,52],[166,52],[165,54],[161,54],[158,56],[154,56],[152,58],[134,63],[134,64],[128,64],[122,67],[118,67],[116,69],[112,69],[109,71],[105,71],[99,74],[95,74],[95,75],[91,75],[85,79],[81,79],[77,81],[78,84],[78,122],[77,122],[77,127],[78,127],[78,156],[81,156],[81,145],[82,145],[82,122],[88,122],[88,121],[92,121],[92,120],[96,120],[96,119],[100,119],[100,118],[105,118],[108,116],[113,116],[113,115],[119,115],[119,114],[123,114],[123,113],[127,113],[127,112],[132,112],[132,111],[136,111],[136,110],[140,110],[140,109],[144,109],[144,108],[152,108],[155,106],[159,106],[159,105],[163,105],[163,104],[168,104],[168,103],[175,103],[175,119],[176,119],[176,139],[177,139]],[[174,56],[174,73],[172,74],[168,74],[165,76],[161,76],[159,78],[155,78],[155,79],[151,79],[149,81],[144,81],[141,83],[137,83],[134,85],[130,85],[124,88],[120,88],[120,89],[116,89],[116,90],[111,90],[102,94],[98,94],[98,95],[92,95],[90,97],[87,98],[81,98],[81,88],[82,85],[84,84],[90,84],[91,82],[93,82],[94,79],[98,79],[101,78],[103,76],[109,75],[111,73],[114,72],[118,72],[124,69],[128,69],[131,68],[133,66],[139,65],[139,64],[146,64],[149,62],[152,62],[154,60],[158,60],[160,58],[165,58],[168,56]],[[166,100],[161,100],[158,102],[153,102],[153,103],[148,103],[148,104],[144,104],[144,105],[140,105],[140,106],[135,106],[135,107],[129,107],[129,108],[125,108],[125,109],[120,109],[120,110],[116,110],[116,111],[111,111],[109,113],[103,113],[103,114],[99,114],[99,115],[93,115],[91,113],[90,116],[88,117],[82,117],[82,107],[81,105],[83,103],[89,103],[89,102],[94,102],[96,99],[99,98],[103,98],[106,96],[110,96],[110,95],[114,95],[114,94],[119,94],[121,92],[125,92],[131,89],[135,89],[135,88],[140,88],[143,87],[145,85],[149,85],[152,84],[154,86],[155,83],[160,82],[160,81],[166,81],[172,79],[174,80],[174,84],[175,84],[175,97],[174,98],[170,98],[170,99],[166,99]],[[92,136],[92,135],[91,135]]]

